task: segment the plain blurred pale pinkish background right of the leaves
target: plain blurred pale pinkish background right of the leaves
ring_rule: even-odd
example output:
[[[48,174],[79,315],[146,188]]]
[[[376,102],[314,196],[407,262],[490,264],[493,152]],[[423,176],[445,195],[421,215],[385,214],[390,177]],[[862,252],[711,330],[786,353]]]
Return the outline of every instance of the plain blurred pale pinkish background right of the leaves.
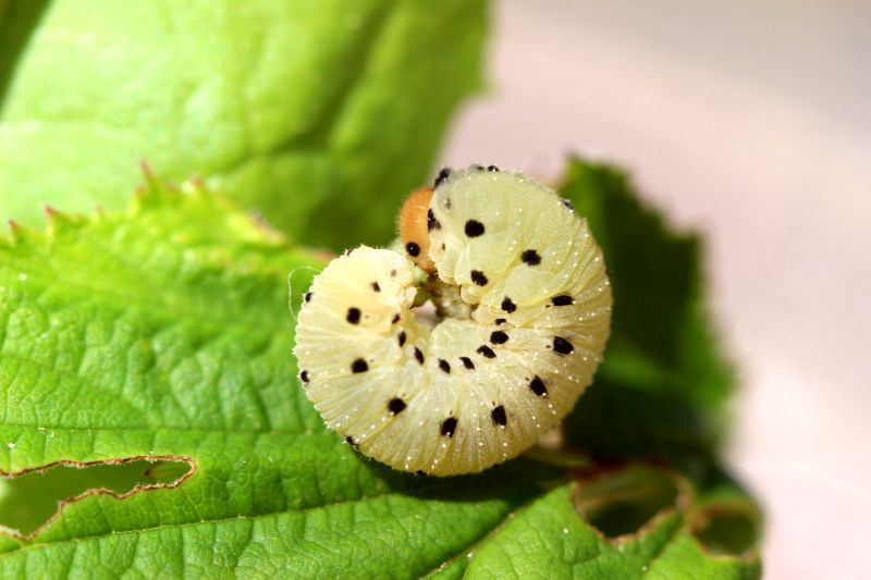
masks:
[[[493,26],[444,163],[602,156],[702,232],[765,577],[867,578],[871,5],[503,0]]]

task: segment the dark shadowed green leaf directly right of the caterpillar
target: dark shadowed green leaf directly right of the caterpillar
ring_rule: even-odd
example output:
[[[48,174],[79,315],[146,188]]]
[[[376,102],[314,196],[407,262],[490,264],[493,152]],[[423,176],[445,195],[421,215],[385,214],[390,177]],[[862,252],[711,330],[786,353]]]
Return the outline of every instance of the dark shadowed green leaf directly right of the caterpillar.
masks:
[[[560,190],[588,218],[614,292],[604,363],[567,439],[606,457],[712,454],[733,377],[704,308],[699,237],[670,229],[614,166],[575,159]]]

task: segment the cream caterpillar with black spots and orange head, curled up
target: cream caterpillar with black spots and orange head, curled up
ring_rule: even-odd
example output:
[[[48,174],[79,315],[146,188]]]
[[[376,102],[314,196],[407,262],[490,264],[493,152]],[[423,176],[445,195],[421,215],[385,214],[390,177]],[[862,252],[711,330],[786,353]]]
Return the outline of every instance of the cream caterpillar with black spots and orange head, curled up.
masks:
[[[360,246],[315,277],[299,379],[364,455],[482,471],[536,444],[592,382],[611,324],[602,252],[567,200],[493,165],[442,170],[405,202],[400,234],[405,255]]]

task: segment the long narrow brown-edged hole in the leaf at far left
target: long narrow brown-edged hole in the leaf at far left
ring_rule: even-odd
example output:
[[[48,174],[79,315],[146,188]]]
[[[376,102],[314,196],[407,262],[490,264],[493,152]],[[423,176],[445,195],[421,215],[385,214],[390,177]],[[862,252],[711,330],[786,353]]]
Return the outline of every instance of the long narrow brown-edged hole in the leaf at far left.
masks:
[[[186,459],[121,459],[59,464],[0,478],[0,527],[28,536],[66,503],[91,494],[127,497],[145,490],[173,488],[194,472]]]

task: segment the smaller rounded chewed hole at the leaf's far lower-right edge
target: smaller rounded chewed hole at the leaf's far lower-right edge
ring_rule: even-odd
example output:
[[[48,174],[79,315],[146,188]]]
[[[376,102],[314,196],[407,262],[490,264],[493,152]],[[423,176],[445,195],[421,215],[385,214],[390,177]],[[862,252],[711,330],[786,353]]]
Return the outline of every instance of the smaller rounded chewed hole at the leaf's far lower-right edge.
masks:
[[[691,528],[717,556],[741,556],[759,544],[759,515],[744,506],[708,506],[696,515]]]

